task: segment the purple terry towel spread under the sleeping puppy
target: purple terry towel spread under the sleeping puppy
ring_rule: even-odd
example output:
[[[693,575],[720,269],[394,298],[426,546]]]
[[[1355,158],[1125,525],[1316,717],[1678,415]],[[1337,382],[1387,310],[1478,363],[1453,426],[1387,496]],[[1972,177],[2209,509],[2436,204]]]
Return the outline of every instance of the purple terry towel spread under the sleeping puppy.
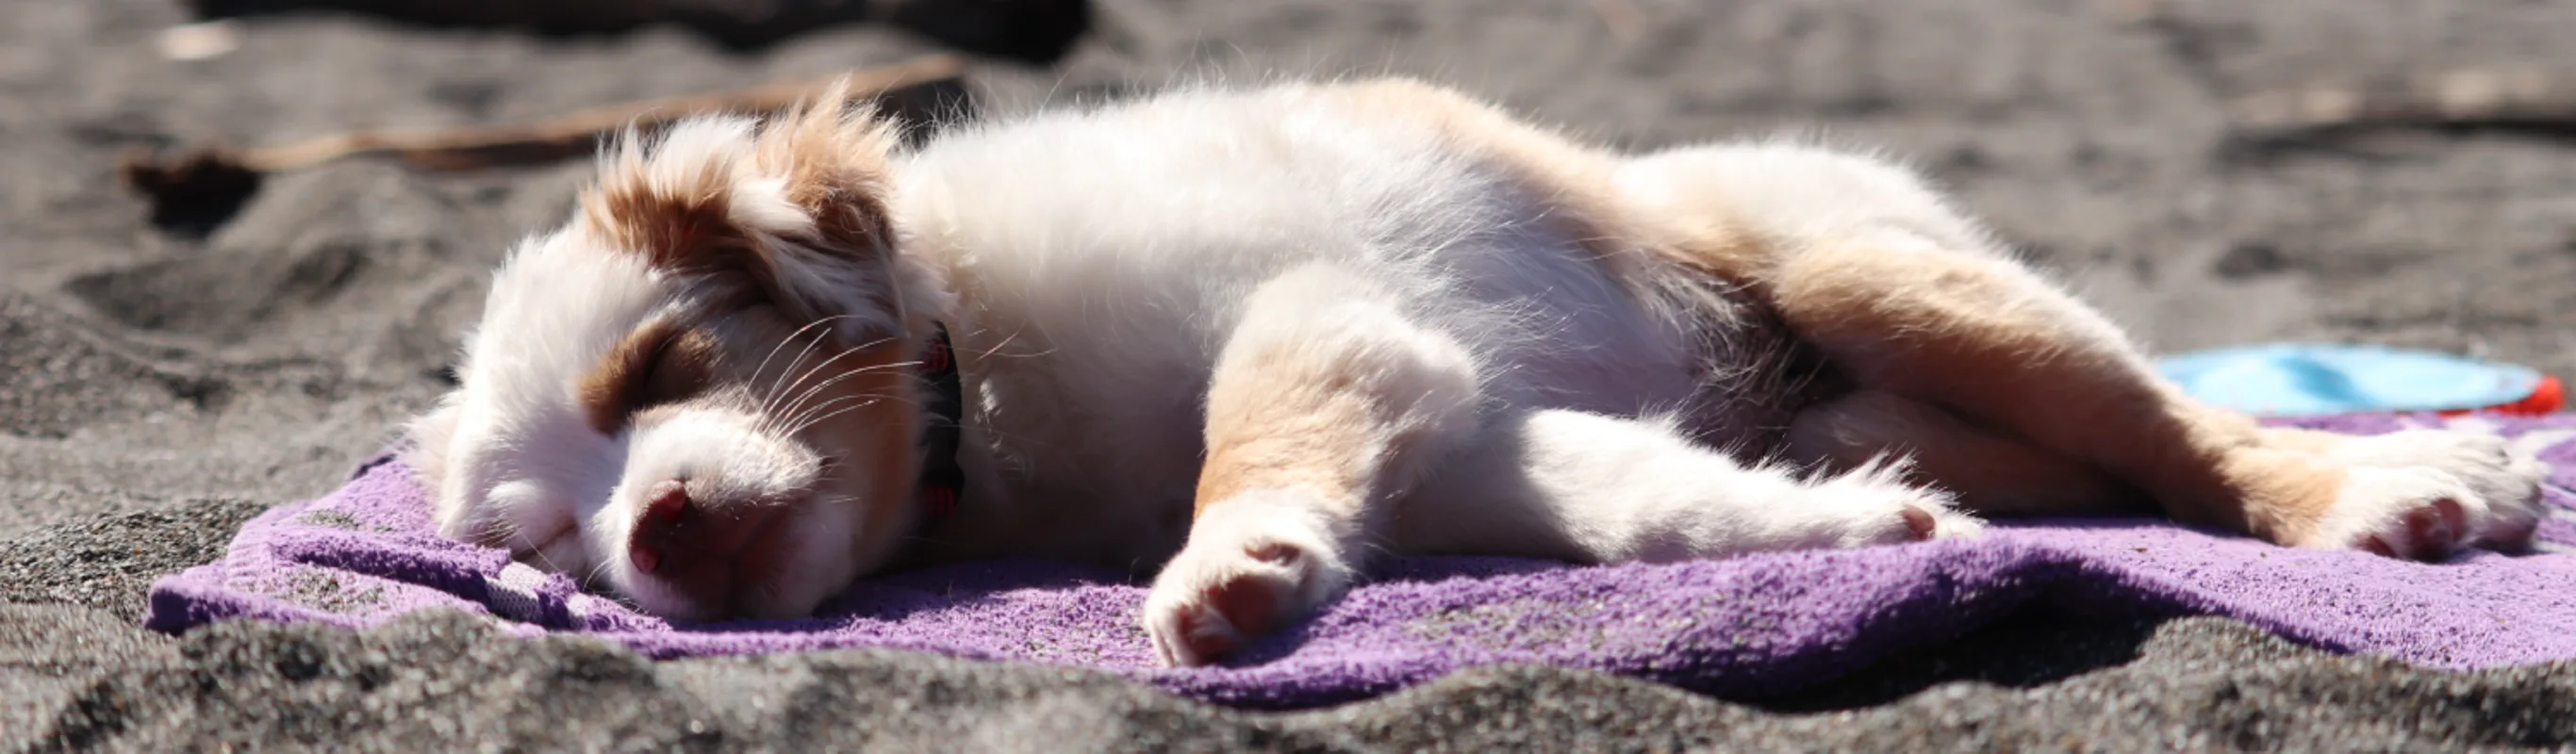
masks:
[[[2501,432],[2553,466],[2535,556],[2406,564],[2293,551],[2151,520],[2007,525],[1978,540],[1664,566],[1399,558],[1319,618],[1213,669],[1154,664],[1144,587],[1061,564],[971,564],[855,584],[824,618],[672,628],[505,551],[440,540],[397,458],[247,522],[224,558],[152,587],[144,623],[374,625],[422,607],[520,636],[590,633],[649,656],[889,646],[1092,667],[1200,700],[1306,708],[1476,664],[1535,661],[1721,695],[1777,695],[2014,610],[2228,615],[2293,641],[2429,667],[2576,659],[2576,414],[2336,417],[2349,432]]]

